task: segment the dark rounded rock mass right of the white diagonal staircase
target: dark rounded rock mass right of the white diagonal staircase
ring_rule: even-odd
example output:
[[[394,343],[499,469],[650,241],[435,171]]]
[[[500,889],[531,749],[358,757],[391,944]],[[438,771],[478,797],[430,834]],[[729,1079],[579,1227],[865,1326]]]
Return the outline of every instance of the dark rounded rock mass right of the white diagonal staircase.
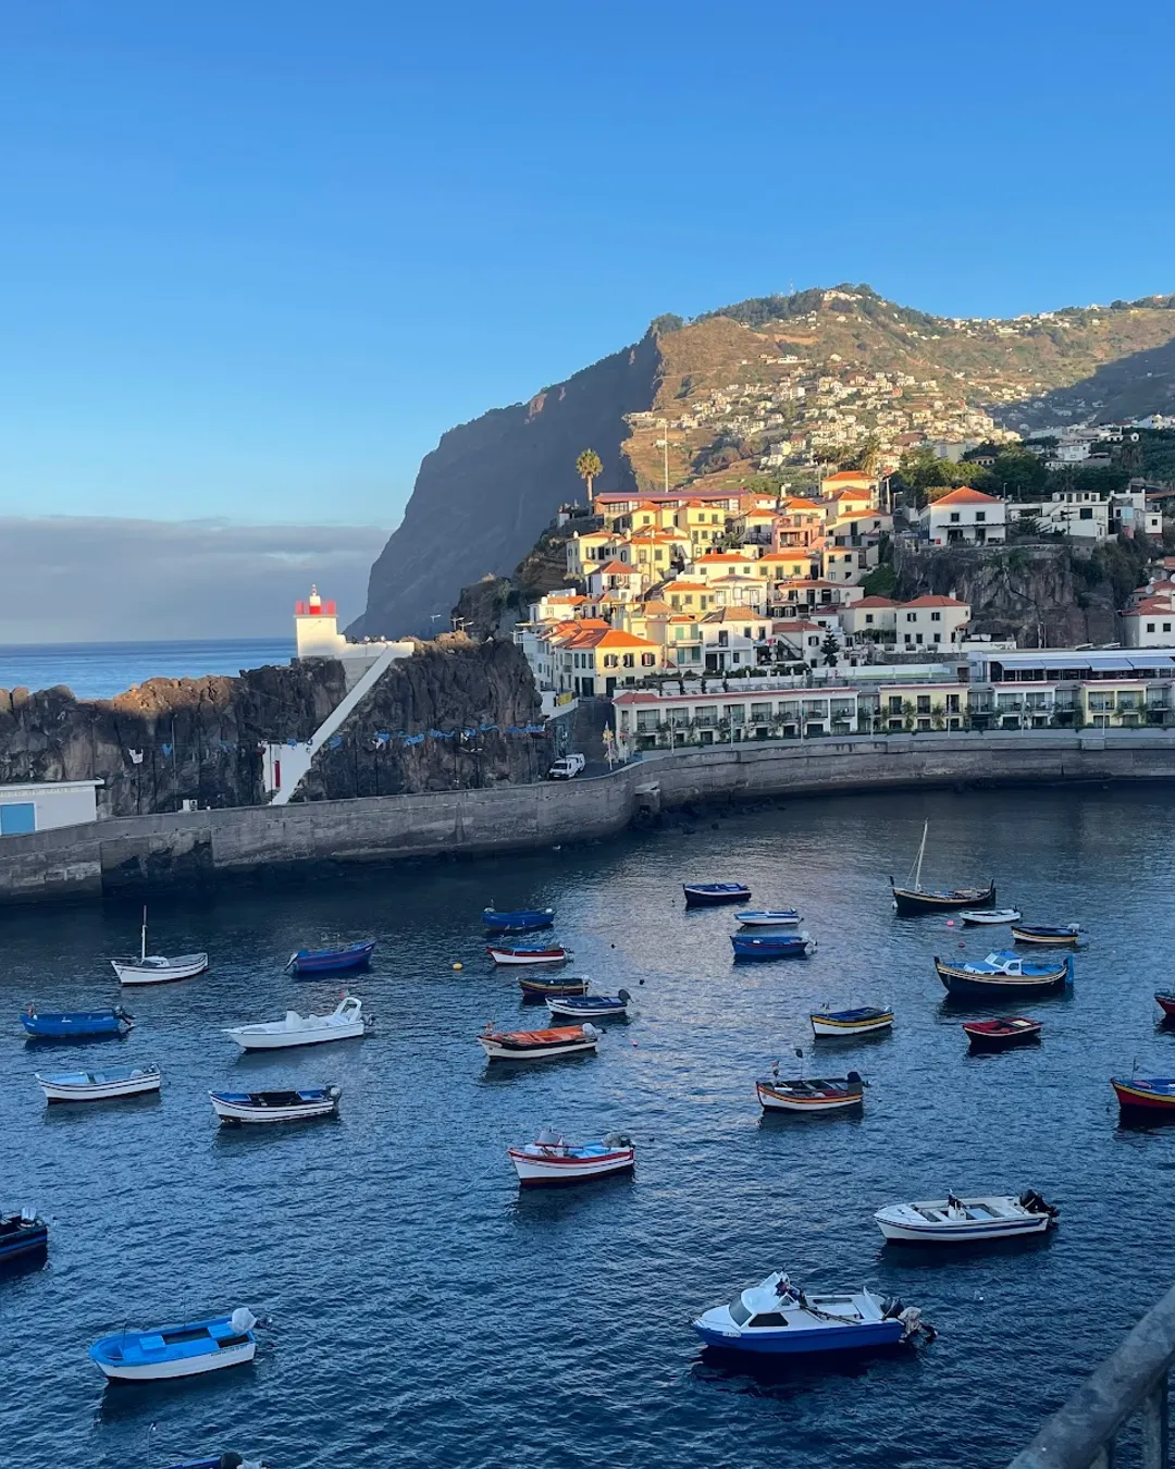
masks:
[[[548,739],[527,733],[538,720],[535,680],[513,642],[442,638],[388,670],[317,752],[294,799],[535,780],[549,764]]]

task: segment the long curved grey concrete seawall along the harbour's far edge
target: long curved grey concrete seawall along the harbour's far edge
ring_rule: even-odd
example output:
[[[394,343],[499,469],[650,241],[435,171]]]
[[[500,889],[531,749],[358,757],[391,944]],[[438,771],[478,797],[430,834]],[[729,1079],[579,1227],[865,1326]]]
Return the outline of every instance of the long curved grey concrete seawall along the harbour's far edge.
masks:
[[[880,734],[646,755],[563,784],[119,817],[0,839],[0,902],[212,890],[325,865],[612,836],[637,811],[908,786],[1175,780],[1175,730]]]

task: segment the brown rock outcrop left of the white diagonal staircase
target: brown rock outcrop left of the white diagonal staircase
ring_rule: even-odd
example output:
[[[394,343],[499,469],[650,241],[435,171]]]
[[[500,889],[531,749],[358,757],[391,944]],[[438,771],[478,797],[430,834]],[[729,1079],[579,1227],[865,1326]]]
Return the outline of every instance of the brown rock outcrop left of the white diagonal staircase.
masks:
[[[342,665],[151,679],[115,699],[0,690],[0,783],[101,780],[104,815],[251,805],[264,740],[308,739],[344,696]]]

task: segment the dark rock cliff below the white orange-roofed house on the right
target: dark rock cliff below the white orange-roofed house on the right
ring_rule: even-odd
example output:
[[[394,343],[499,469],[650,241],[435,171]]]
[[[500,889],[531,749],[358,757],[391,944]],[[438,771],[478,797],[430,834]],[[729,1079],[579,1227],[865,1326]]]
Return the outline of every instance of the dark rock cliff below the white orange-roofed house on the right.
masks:
[[[1075,648],[1121,640],[1118,610],[1143,580],[1144,564],[1141,544],[1093,554],[1065,545],[899,546],[894,595],[958,596],[971,604],[975,633],[1015,638],[1021,648]]]

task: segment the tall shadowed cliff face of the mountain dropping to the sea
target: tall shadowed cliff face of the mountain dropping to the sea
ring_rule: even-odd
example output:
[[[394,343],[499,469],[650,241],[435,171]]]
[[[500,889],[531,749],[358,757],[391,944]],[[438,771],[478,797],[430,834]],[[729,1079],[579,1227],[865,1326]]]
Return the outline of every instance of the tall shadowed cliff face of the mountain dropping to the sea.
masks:
[[[652,407],[658,369],[649,335],[530,403],[445,433],[422,461],[404,523],[372,567],[367,610],[352,632],[433,632],[432,614],[448,617],[461,586],[508,571],[564,501],[583,498],[582,450],[599,454],[601,488],[632,488],[624,414]]]

